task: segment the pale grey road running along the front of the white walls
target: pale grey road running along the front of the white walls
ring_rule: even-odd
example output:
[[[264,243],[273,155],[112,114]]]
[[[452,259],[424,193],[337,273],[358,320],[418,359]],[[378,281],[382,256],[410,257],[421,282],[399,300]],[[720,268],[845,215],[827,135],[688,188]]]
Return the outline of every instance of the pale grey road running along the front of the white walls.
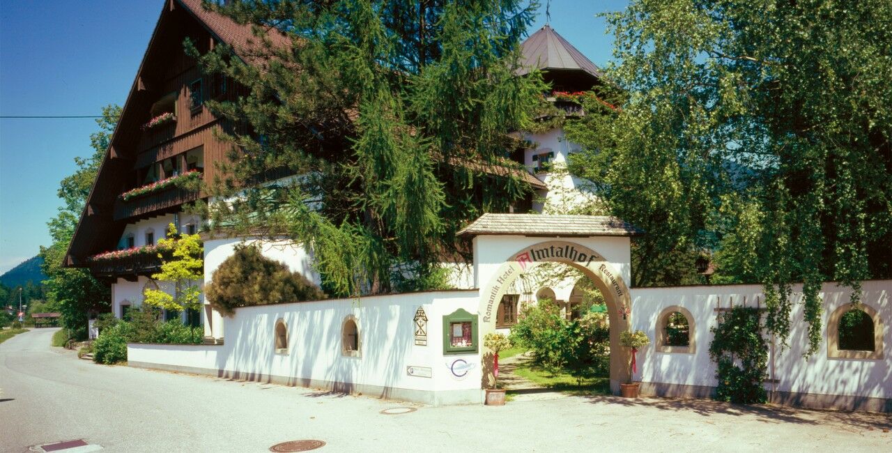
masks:
[[[521,396],[503,408],[368,397],[79,360],[54,329],[0,344],[0,450],[83,439],[111,451],[892,451],[892,419],[703,400]],[[384,415],[387,408],[417,410]],[[884,430],[887,430],[884,432]]]

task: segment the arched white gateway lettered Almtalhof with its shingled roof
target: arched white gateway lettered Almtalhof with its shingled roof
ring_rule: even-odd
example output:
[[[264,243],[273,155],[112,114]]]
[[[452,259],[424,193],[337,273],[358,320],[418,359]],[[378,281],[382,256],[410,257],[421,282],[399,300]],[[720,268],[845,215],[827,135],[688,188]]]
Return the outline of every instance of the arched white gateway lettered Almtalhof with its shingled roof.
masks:
[[[631,351],[619,334],[632,322],[632,299],[625,283],[631,273],[630,238],[640,230],[617,218],[484,214],[459,232],[474,236],[475,283],[480,292],[479,338],[495,331],[502,296],[538,263],[558,262],[580,270],[604,295],[610,321],[610,389],[632,377]],[[490,382],[492,357],[482,348],[483,386]]]

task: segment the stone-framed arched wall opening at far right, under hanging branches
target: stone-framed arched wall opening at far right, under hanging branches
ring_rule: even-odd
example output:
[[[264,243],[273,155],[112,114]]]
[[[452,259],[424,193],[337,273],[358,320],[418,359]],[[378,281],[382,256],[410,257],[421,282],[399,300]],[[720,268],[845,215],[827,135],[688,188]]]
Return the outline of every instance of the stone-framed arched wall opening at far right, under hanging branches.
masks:
[[[827,323],[827,357],[882,360],[883,326],[877,310],[863,303],[833,310]]]

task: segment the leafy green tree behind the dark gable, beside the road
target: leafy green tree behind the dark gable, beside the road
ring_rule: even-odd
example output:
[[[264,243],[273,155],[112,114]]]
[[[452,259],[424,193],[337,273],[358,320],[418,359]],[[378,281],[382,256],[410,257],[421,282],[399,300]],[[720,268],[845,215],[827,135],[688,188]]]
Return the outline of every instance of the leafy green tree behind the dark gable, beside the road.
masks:
[[[47,301],[58,305],[62,313],[62,325],[69,328],[75,338],[87,336],[89,311],[108,309],[110,293],[108,286],[97,281],[87,269],[62,268],[62,259],[68,250],[71,236],[78,227],[78,218],[84,210],[87,195],[103,162],[119,117],[120,107],[117,105],[103,107],[103,117],[96,119],[99,131],[90,136],[93,155],[75,158],[78,169],[62,179],[59,198],[64,205],[59,208],[56,217],[47,223],[53,244],[40,248],[40,255],[44,258],[42,268],[46,275],[44,286]]]

